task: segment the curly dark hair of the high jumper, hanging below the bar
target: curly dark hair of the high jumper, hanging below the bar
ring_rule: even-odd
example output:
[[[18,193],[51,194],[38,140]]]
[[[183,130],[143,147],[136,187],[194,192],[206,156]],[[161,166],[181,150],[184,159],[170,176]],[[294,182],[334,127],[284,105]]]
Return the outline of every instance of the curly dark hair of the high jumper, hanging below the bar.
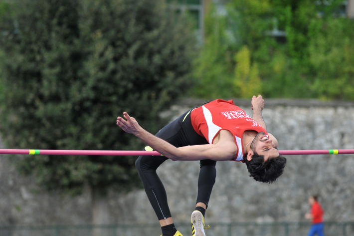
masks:
[[[247,153],[243,157],[243,161],[247,165],[250,177],[253,177],[256,181],[263,183],[273,183],[279,176],[283,174],[284,167],[286,165],[286,158],[278,156],[275,158],[269,158],[264,161],[263,155],[258,155],[254,152],[252,160],[247,160]]]

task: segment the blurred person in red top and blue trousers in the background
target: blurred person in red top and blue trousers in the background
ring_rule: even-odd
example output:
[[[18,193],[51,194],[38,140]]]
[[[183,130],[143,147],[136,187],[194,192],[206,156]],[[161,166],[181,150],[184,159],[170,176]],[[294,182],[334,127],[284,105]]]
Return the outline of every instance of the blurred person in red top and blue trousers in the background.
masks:
[[[321,204],[317,201],[318,196],[314,195],[309,198],[309,204],[311,205],[311,213],[305,215],[306,219],[312,220],[312,227],[309,231],[308,236],[324,236],[323,233],[323,214],[324,211],[321,207]]]

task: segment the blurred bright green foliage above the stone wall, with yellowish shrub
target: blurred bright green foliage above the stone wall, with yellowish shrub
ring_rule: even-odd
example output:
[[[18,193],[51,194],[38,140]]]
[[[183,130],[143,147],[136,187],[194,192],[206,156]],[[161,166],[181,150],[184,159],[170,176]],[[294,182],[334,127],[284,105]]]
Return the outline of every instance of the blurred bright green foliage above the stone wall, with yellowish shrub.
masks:
[[[211,7],[190,96],[353,100],[354,21],[343,3],[230,0],[225,14]]]

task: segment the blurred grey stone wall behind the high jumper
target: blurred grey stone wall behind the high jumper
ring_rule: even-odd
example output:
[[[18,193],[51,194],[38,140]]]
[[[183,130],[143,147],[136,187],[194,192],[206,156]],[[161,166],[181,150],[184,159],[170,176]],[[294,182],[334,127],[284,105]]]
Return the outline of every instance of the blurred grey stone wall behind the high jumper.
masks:
[[[234,101],[252,114],[249,100]],[[204,102],[184,100],[166,113],[176,117]],[[279,150],[354,149],[352,102],[266,100],[263,117],[268,132],[279,141]],[[20,176],[7,158],[0,155],[0,225],[90,224],[89,191],[76,198],[45,193],[34,180]],[[219,162],[206,213],[208,222],[304,221],[310,208],[307,199],[313,194],[320,195],[325,221],[354,221],[354,155],[287,159],[283,176],[273,184],[255,182],[248,177],[245,164]],[[198,169],[198,162],[167,161],[158,170],[175,222],[188,223],[195,204]],[[107,201],[111,223],[157,223],[142,190],[125,196],[111,192]]]

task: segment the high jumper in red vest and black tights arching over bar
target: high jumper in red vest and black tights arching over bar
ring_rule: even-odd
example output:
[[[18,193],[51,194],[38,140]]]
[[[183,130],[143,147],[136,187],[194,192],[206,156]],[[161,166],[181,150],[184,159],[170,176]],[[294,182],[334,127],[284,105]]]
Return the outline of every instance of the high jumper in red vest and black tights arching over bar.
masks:
[[[135,118],[123,113],[117,125],[134,134],[163,156],[139,156],[136,167],[145,192],[159,219],[162,236],[182,236],[175,228],[165,187],[156,173],[166,160],[200,161],[195,211],[191,215],[192,236],[205,236],[205,211],[215,183],[217,161],[244,162],[253,179],[272,183],[283,174],[286,159],[279,155],[278,141],[266,131],[262,117],[264,99],[251,100],[248,116],[232,100],[217,99],[182,114],[156,135],[143,129]]]

